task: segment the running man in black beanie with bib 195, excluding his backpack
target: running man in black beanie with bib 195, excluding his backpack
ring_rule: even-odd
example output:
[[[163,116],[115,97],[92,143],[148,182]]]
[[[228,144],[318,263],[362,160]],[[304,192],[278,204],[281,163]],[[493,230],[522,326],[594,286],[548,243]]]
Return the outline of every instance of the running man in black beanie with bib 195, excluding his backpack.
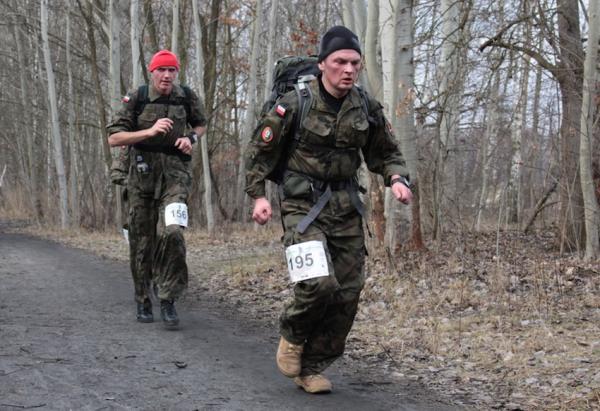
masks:
[[[252,218],[271,219],[265,178],[288,156],[280,186],[283,241],[294,298],[280,317],[277,366],[309,393],[329,392],[321,373],[344,353],[364,286],[364,207],[358,195],[361,153],[381,174],[398,201],[412,193],[404,159],[382,106],[355,86],[362,61],[356,35],[343,26],[321,40],[321,74],[308,85],[312,95],[293,150],[295,91],[284,95],[260,120],[246,152],[246,192]],[[300,275],[301,273],[301,275]]]

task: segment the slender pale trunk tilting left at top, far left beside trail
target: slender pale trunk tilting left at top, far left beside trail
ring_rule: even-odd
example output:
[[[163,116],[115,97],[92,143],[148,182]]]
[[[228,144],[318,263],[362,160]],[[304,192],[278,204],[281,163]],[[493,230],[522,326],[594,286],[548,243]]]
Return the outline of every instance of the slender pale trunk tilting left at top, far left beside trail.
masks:
[[[54,165],[58,179],[58,194],[60,208],[60,226],[64,230],[69,225],[67,179],[65,176],[65,163],[62,154],[62,142],[60,136],[60,125],[58,120],[58,102],[56,100],[56,85],[54,82],[54,70],[52,69],[52,58],[50,57],[50,43],[48,40],[48,0],[40,3],[40,20],[42,26],[42,43],[44,61],[46,65],[46,76],[48,78],[48,103],[50,105],[50,123],[52,126],[52,143],[54,146]]]

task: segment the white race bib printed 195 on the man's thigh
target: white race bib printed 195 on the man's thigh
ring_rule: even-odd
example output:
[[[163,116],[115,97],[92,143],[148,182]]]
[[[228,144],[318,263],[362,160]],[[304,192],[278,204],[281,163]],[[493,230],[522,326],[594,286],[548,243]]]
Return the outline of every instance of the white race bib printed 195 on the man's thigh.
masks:
[[[285,249],[290,279],[293,283],[329,275],[327,257],[321,241],[306,241]]]

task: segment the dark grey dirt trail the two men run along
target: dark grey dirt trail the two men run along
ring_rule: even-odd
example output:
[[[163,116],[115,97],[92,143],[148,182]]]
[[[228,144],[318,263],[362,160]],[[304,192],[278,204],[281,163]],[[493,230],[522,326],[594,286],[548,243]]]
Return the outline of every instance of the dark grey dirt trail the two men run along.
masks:
[[[126,264],[1,229],[0,282],[1,410],[459,409],[339,366],[310,396],[277,372],[276,330],[239,307],[194,295],[179,331],[140,324]]]

